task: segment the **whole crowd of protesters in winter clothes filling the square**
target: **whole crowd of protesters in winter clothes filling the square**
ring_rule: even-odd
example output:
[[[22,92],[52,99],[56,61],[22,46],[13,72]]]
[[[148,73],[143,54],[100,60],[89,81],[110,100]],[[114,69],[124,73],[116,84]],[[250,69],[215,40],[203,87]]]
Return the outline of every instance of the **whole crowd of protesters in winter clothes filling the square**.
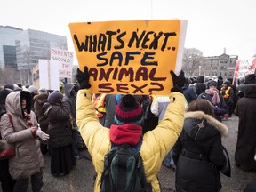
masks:
[[[113,144],[137,145],[151,190],[160,191],[162,164],[176,172],[176,191],[220,191],[219,169],[226,164],[222,123],[239,117],[236,166],[256,171],[256,77],[233,79],[185,77],[171,72],[170,95],[92,94],[88,68],[77,70],[77,83],[63,92],[36,86],[1,87],[1,138],[15,146],[16,156],[0,160],[3,191],[43,188],[43,156],[51,156],[52,176],[68,174],[87,148],[100,191],[104,156]],[[13,119],[11,124],[9,116]],[[82,139],[83,138],[83,139]],[[82,143],[81,143],[82,140]],[[79,143],[80,142],[80,143]],[[213,166],[212,166],[213,164]]]

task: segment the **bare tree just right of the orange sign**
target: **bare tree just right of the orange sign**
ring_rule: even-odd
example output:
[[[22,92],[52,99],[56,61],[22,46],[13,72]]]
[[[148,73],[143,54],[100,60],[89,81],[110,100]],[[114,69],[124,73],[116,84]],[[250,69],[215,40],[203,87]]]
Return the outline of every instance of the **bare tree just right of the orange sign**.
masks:
[[[182,60],[182,70],[186,76],[198,76],[200,73],[203,57],[197,54],[184,54]]]

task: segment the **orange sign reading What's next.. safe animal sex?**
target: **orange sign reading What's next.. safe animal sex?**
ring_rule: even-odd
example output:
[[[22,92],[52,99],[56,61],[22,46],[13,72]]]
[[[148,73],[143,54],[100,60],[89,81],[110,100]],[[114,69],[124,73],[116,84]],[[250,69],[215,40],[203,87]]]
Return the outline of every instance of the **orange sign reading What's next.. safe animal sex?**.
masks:
[[[94,93],[168,94],[179,71],[187,22],[127,20],[70,23],[79,68]]]

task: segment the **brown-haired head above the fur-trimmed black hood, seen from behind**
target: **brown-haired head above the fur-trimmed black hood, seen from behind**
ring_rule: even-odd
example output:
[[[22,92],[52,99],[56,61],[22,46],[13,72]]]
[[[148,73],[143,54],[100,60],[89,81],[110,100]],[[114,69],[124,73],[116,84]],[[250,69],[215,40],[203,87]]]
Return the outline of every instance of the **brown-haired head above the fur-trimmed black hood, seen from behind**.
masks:
[[[189,111],[203,111],[204,114],[209,116],[214,116],[214,112],[212,110],[212,104],[209,100],[192,100],[188,104],[187,112]]]

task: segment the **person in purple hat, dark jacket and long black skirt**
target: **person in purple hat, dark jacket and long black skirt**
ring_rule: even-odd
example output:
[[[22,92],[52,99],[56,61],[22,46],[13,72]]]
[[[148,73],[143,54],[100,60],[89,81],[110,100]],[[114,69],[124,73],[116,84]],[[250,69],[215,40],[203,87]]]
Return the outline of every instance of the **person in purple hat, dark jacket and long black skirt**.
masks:
[[[52,92],[44,103],[43,111],[49,121],[48,145],[51,148],[51,173],[54,176],[68,174],[76,165],[72,149],[73,138],[68,102],[63,101],[62,93]]]

